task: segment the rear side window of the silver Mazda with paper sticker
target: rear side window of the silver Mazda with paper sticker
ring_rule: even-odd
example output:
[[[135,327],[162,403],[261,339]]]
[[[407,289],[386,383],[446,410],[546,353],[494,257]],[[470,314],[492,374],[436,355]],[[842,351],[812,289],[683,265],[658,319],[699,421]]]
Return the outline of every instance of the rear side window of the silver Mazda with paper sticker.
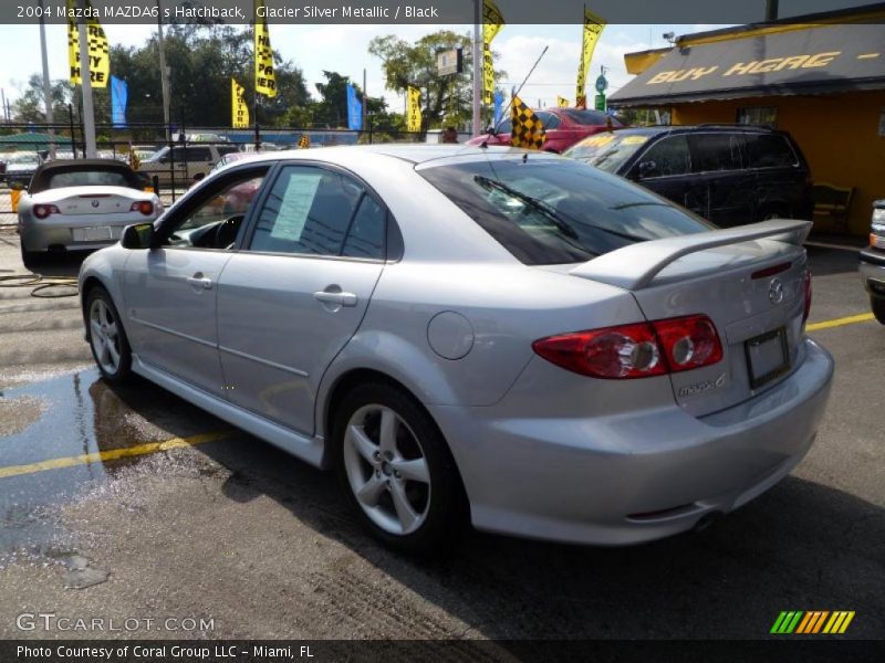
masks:
[[[273,183],[251,251],[382,259],[386,212],[351,177],[290,166]]]

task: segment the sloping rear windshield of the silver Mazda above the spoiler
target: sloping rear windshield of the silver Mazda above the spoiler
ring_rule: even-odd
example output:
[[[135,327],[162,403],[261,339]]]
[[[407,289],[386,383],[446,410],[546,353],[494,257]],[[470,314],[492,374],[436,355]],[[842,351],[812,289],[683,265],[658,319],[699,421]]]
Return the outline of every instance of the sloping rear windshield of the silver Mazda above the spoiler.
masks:
[[[584,262],[636,242],[715,228],[628,181],[530,155],[418,172],[529,265]]]

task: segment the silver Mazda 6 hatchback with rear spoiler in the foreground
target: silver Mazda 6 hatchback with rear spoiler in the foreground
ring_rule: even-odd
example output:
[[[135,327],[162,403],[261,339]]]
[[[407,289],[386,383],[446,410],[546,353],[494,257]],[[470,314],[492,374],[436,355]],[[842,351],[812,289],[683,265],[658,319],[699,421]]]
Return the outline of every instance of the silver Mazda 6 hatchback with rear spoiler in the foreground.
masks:
[[[334,470],[388,545],[468,522],[624,545],[809,451],[833,375],[805,335],[809,227],[717,230],[535,151],[272,152],[127,228],[80,292],[105,380]]]

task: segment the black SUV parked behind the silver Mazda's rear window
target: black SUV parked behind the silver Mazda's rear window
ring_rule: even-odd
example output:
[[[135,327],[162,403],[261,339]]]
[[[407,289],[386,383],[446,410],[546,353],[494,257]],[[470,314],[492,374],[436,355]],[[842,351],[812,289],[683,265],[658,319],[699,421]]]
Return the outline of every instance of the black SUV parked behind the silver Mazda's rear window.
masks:
[[[811,169],[785,131],[747,125],[657,126],[596,134],[564,152],[729,227],[811,219]]]

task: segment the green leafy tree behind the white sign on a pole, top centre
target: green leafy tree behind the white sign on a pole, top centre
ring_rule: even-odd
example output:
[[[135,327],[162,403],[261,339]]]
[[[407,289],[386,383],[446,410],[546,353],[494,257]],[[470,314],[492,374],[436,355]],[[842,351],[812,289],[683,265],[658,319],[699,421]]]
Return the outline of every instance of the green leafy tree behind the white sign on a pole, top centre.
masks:
[[[424,128],[462,125],[469,120],[472,101],[471,38],[450,30],[426,34],[414,44],[394,34],[376,36],[368,52],[384,61],[387,90],[405,94],[412,85],[421,92]],[[440,50],[460,46],[464,52],[464,72],[440,76],[436,69],[436,54]],[[507,74],[496,70],[496,80]],[[489,110],[490,112],[490,110]]]

